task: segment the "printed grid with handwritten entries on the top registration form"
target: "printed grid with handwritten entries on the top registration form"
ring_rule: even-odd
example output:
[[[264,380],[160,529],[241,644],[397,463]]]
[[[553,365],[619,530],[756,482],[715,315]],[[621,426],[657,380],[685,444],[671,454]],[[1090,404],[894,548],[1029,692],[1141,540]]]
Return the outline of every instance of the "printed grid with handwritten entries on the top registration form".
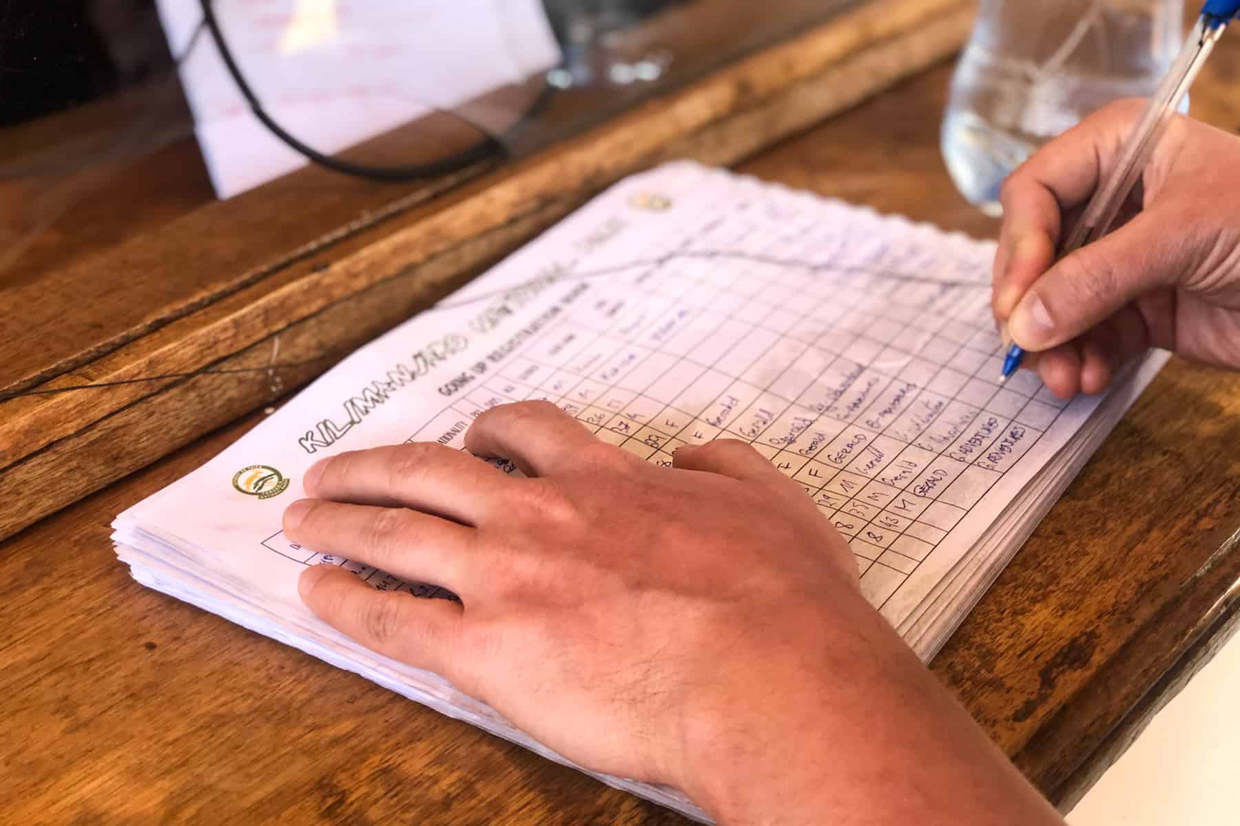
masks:
[[[662,467],[681,445],[746,441],[848,540],[862,589],[882,607],[1065,402],[1029,373],[998,384],[988,275],[918,279],[915,255],[854,243],[847,254],[854,227],[823,237],[764,207],[740,201],[701,217],[656,263],[590,281],[574,312],[408,441],[463,447],[484,410],[528,399]],[[289,547],[280,534],[264,545],[351,566],[383,589],[445,593]]]

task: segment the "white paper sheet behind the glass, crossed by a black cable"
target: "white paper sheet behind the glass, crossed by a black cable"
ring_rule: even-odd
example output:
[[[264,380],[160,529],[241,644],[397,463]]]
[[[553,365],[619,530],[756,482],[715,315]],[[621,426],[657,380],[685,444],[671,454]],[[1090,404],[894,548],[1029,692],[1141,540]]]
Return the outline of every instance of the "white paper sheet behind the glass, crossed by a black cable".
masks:
[[[180,56],[202,20],[200,2],[157,5]],[[559,61],[539,0],[216,0],[213,7],[268,114],[324,154]],[[180,73],[221,198],[306,162],[250,114],[206,33]]]

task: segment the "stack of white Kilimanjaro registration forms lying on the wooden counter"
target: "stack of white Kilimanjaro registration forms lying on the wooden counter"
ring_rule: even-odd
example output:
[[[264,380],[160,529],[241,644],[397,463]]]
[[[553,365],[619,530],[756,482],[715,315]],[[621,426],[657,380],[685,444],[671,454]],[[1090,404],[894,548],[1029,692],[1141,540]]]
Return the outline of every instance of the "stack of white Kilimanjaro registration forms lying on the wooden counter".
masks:
[[[136,580],[560,759],[443,679],[377,656],[296,596],[301,474],[342,450],[461,446],[480,411],[548,399],[670,466],[742,438],[849,537],[867,597],[929,659],[1151,380],[1105,398],[998,383],[993,244],[675,163],[629,178],[362,348],[237,443],[122,514]],[[671,472],[671,471],[668,471]],[[722,561],[720,561],[722,562]],[[413,598],[413,597],[410,597]],[[675,791],[604,778],[702,814]]]

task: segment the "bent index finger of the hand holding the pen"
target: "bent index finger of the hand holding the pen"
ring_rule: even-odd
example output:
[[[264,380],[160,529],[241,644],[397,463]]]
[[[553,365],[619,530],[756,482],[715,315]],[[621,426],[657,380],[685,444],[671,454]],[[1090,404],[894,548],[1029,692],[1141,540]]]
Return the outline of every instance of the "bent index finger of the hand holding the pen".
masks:
[[[1007,321],[1029,286],[1054,264],[1063,215],[1097,188],[1141,107],[1140,100],[1121,100],[1090,115],[1038,150],[1003,183],[991,297],[997,320]]]

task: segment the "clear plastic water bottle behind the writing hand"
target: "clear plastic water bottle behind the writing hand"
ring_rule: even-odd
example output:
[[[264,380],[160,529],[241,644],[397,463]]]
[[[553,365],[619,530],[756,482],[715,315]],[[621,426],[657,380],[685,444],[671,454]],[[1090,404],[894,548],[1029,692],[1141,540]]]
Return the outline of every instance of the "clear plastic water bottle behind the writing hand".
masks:
[[[1111,100],[1153,94],[1183,26],[1183,0],[982,0],[942,121],[956,187],[999,214],[1003,178],[1038,146]]]

